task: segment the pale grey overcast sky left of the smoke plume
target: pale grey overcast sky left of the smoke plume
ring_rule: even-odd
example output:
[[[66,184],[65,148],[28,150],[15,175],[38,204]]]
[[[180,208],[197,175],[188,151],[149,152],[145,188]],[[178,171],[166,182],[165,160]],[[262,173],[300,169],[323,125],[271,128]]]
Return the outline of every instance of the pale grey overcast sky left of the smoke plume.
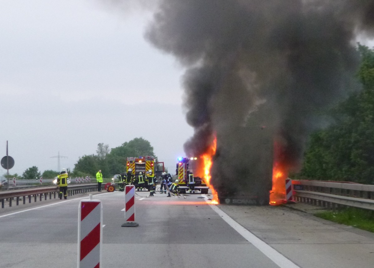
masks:
[[[144,39],[149,10],[103,2],[0,0],[0,157],[8,141],[11,174],[57,170],[58,153],[72,170],[98,143],[137,137],[169,172],[184,155],[184,70]]]

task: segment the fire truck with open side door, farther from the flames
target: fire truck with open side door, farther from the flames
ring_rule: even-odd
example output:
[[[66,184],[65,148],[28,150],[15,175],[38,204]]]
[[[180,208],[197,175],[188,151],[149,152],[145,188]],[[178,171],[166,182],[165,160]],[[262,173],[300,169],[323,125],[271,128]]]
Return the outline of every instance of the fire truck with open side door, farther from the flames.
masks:
[[[162,164],[162,169],[158,164]],[[145,176],[145,172],[148,170],[151,170],[153,174],[159,176],[165,170],[164,163],[156,162],[153,156],[140,156],[138,158],[128,157],[126,161],[126,172],[128,172],[129,168],[132,169],[132,174],[135,176],[138,175],[139,172],[143,172]]]

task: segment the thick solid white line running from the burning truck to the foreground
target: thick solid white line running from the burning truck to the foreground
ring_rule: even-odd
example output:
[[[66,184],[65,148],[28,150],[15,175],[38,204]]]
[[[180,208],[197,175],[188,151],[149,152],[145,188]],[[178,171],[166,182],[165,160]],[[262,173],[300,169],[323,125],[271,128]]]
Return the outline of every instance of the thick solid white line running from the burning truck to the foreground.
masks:
[[[219,215],[221,218],[227,222],[232,228],[234,228],[235,231],[237,231],[242,237],[244,237],[246,240],[249,241],[252,245],[254,245],[258,250],[260,250],[264,255],[266,255],[269,259],[271,259],[276,265],[278,265],[281,268],[300,268],[296,264],[294,264],[292,261],[290,261],[288,258],[283,256],[281,253],[273,249],[271,246],[266,244],[264,241],[259,239],[257,236],[252,234],[250,231],[248,231],[246,228],[244,228],[242,225],[234,221],[232,218],[230,218],[229,215],[227,215],[225,212],[223,212],[220,208],[218,208],[216,205],[212,205],[210,203],[210,200],[208,200],[208,197],[205,196],[205,201],[209,204],[209,206]]]

